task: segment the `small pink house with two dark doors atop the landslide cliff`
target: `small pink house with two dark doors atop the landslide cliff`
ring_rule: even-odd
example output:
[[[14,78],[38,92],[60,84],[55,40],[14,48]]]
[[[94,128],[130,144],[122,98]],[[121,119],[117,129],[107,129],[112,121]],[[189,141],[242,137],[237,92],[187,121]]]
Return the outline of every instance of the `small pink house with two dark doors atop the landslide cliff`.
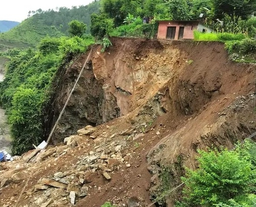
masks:
[[[159,21],[158,39],[194,39],[193,31],[213,32],[199,21]]]

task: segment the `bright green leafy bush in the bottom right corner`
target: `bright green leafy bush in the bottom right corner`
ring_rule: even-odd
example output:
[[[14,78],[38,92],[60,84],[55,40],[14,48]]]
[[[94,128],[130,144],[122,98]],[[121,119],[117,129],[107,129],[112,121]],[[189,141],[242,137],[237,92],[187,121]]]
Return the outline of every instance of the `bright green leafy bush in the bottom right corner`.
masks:
[[[254,142],[239,144],[234,151],[213,148],[198,153],[199,168],[195,171],[187,169],[186,177],[182,177],[187,206],[224,207],[230,204],[238,207],[232,205],[231,199],[240,205],[255,202],[255,196],[250,195],[256,189]]]

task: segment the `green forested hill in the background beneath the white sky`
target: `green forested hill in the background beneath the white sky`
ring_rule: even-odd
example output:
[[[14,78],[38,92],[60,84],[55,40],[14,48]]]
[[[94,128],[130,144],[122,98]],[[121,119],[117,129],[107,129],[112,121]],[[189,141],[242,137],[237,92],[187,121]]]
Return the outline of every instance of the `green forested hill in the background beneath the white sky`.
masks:
[[[98,12],[100,2],[95,1],[86,6],[59,8],[58,11],[48,10],[30,11],[29,18],[10,31],[0,34],[0,51],[13,47],[35,46],[46,35],[59,37],[67,35],[68,23],[79,20],[87,24],[90,33],[90,16]]]

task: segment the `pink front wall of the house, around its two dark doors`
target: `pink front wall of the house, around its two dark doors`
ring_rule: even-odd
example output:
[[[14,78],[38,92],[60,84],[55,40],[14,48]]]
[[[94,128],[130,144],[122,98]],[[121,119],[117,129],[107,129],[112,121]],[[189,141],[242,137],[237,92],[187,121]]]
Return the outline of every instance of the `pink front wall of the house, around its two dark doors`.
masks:
[[[164,21],[159,22],[158,26],[158,39],[166,39],[167,27],[176,27],[175,40],[179,38],[179,27],[184,27],[183,39],[194,39],[193,31],[197,30],[197,22],[175,22],[175,21]]]

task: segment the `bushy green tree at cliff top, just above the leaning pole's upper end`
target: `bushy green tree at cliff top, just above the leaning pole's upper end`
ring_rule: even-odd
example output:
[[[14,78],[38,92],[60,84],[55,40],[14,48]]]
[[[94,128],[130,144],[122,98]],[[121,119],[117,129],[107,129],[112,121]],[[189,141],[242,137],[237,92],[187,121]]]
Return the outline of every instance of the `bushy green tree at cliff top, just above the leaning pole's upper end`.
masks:
[[[113,30],[114,23],[112,19],[107,18],[106,14],[91,15],[91,35],[95,38],[103,39],[105,35],[109,35]]]

